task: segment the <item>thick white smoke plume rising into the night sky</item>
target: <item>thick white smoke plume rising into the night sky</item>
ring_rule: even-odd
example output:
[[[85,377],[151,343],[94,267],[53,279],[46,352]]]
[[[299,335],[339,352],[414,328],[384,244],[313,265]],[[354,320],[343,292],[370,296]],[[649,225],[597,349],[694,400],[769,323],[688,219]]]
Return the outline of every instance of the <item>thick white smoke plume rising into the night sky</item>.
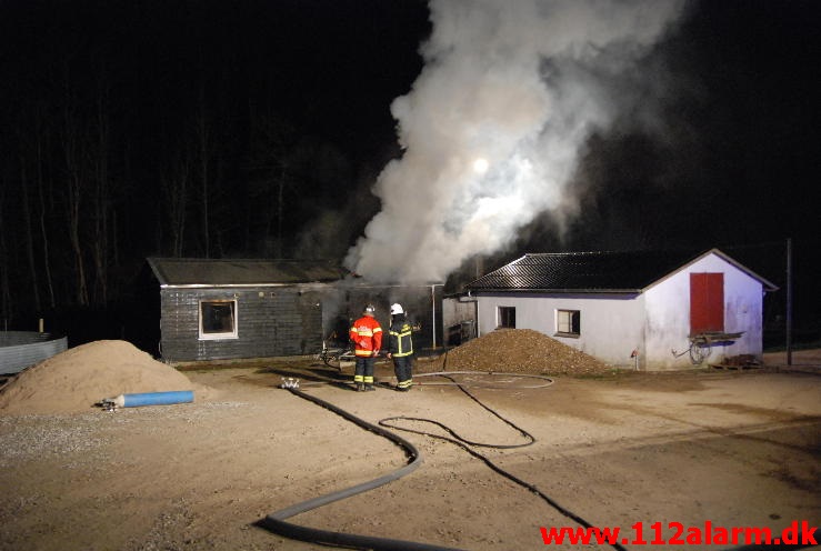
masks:
[[[432,0],[424,69],[391,106],[404,152],[379,176],[382,210],[346,266],[371,281],[444,281],[555,211],[585,138],[619,113],[608,82],[634,69],[683,7]]]

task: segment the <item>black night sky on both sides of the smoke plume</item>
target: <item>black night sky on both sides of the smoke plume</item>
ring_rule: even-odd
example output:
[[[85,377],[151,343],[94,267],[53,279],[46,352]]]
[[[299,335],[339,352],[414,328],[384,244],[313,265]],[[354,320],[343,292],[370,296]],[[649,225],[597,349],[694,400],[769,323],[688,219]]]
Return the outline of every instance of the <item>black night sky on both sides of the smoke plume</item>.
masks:
[[[567,240],[537,219],[500,258],[545,243],[781,247],[791,237],[811,264],[821,220],[818,6],[693,3],[653,58],[674,76],[660,111],[668,139],[629,128],[594,136],[573,184],[585,191],[583,209]],[[169,253],[158,182],[179,173],[182,160],[191,182],[201,176],[202,121],[217,193],[211,256],[271,254],[270,242],[254,239],[261,233],[279,238],[276,252],[296,254],[293,243],[322,217],[347,224],[318,252],[343,256],[379,210],[369,188],[399,154],[390,104],[420,73],[429,32],[427,4],[409,0],[0,0],[0,208],[11,280],[26,279],[24,253],[12,244],[23,240],[22,231],[12,237],[23,224],[13,190],[21,173],[36,173],[32,143],[51,148],[40,167],[59,190],[69,172],[66,113],[87,121],[93,137],[99,127],[88,121],[102,89],[117,262]],[[282,164],[291,174],[286,213],[272,221],[259,210],[259,186]],[[56,241],[59,228],[50,230]],[[202,256],[202,239],[188,239],[182,253]]]

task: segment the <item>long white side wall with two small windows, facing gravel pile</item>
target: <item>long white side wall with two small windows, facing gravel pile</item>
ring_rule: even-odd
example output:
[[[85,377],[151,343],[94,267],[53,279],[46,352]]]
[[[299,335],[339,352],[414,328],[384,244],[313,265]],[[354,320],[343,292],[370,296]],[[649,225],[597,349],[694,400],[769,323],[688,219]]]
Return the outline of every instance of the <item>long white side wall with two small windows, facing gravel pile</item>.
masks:
[[[642,295],[483,293],[478,300],[480,335],[499,327],[499,307],[513,307],[517,329],[542,332],[612,365],[632,369],[631,352],[642,344]],[[557,310],[579,310],[578,338],[557,334]]]

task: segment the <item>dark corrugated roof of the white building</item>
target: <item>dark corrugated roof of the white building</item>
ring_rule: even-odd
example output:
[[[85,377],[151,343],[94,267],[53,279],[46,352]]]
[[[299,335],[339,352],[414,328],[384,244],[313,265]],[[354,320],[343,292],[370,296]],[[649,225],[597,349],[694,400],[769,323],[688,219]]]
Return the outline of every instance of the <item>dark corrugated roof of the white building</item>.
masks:
[[[767,290],[775,285],[718,249],[692,251],[530,253],[472,281],[470,291],[642,292],[685,264],[715,253]]]

